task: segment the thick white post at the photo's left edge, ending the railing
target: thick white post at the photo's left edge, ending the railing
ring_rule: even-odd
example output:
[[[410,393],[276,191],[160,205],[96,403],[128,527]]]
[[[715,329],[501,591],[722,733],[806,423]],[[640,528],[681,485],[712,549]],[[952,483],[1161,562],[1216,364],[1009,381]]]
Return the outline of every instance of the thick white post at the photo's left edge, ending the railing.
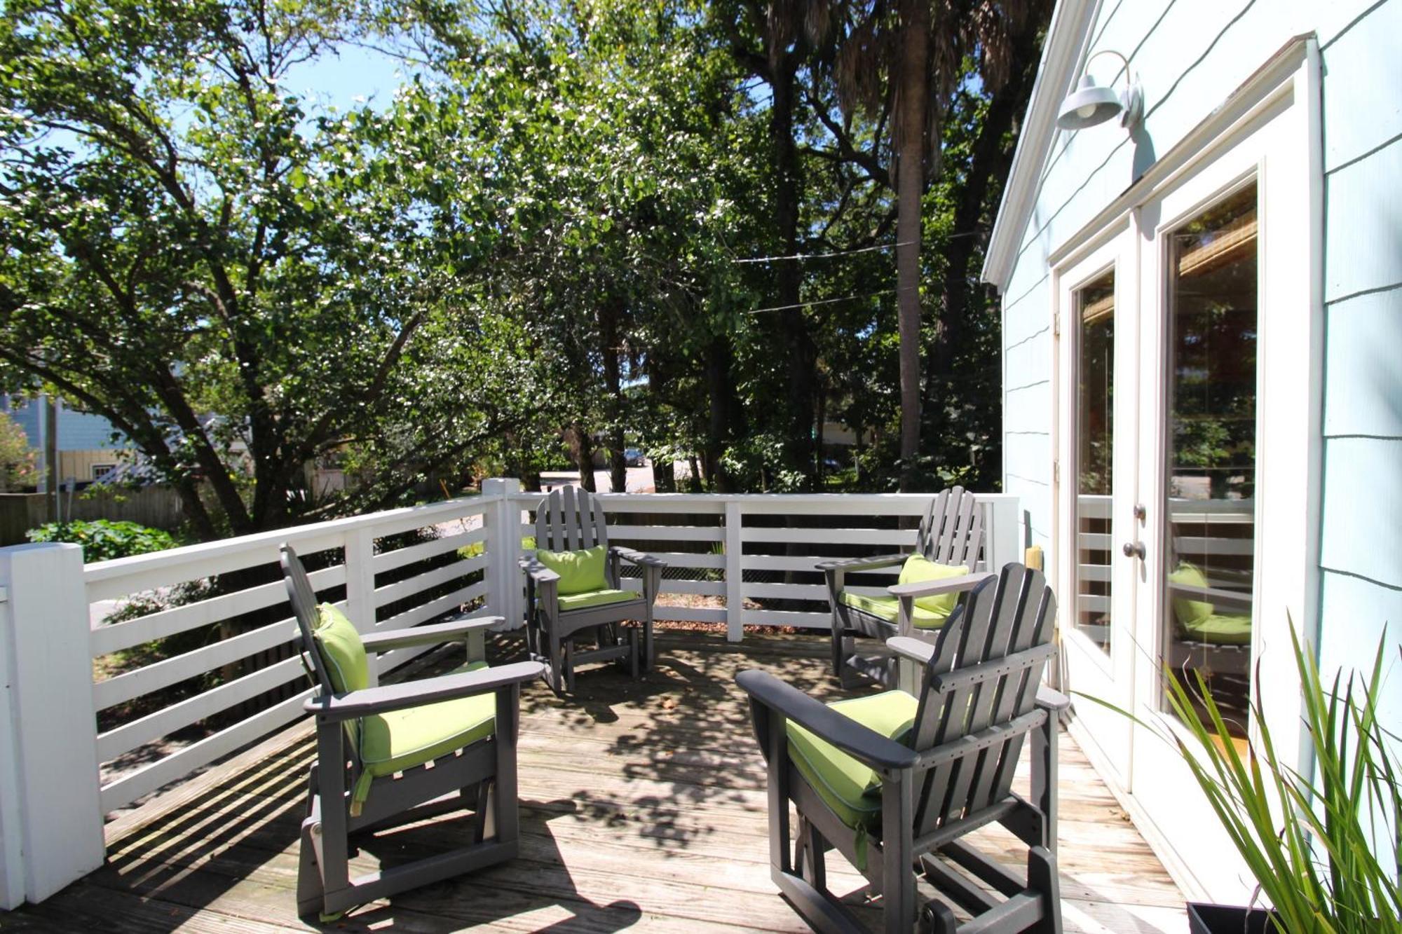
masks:
[[[83,550],[0,548],[0,907],[102,865]]]

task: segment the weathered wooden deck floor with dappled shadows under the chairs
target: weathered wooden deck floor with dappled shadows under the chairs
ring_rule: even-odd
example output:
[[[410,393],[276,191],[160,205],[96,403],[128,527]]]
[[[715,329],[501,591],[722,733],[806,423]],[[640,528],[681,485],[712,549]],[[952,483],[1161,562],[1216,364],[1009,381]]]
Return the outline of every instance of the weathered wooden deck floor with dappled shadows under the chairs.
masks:
[[[520,642],[492,647],[503,658]],[[763,764],[735,673],[765,668],[836,696],[826,641],[747,635],[740,645],[666,632],[644,683],[585,670],[579,696],[523,696],[522,857],[356,910],[328,930],[802,931],[768,878]],[[108,825],[108,865],[4,930],[306,930],[293,885],[311,732],[299,724]],[[1061,740],[1060,868],[1070,931],[1182,931],[1182,896],[1091,770]],[[1025,781],[1025,776],[1023,776]],[[464,822],[366,841],[373,867],[449,848]],[[983,832],[994,851],[1011,837]],[[834,891],[864,899],[859,877]],[[843,867],[845,869],[845,867]],[[365,869],[362,869],[365,871]],[[871,912],[875,921],[878,913]]]

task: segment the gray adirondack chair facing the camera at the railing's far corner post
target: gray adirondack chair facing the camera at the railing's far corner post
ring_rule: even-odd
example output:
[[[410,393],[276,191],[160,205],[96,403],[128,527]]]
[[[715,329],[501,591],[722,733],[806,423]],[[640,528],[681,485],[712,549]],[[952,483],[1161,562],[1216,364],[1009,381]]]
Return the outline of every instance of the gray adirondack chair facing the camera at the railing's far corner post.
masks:
[[[652,606],[658,599],[666,562],[632,548],[608,544],[608,523],[600,502],[586,489],[562,487],[536,506],[537,551],[579,551],[603,547],[604,586],[582,595],[561,595],[559,575],[540,558],[522,558],[526,572],[526,641],[531,656],[545,662],[545,679],[555,691],[575,690],[575,666],[617,659],[634,677],[652,668]],[[622,562],[642,568],[642,593],[625,590]],[[583,599],[579,599],[583,597]],[[572,603],[582,604],[578,609]],[[641,623],[639,627],[621,625]],[[594,639],[596,648],[578,642]],[[641,662],[639,662],[641,655]]]

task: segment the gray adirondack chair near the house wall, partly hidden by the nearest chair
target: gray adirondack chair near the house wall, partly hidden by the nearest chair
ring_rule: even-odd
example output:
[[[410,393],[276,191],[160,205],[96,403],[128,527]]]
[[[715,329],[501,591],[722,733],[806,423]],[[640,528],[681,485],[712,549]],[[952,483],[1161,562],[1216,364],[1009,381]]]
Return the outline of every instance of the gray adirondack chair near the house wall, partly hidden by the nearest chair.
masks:
[[[976,572],[979,554],[983,551],[983,509],[974,495],[963,487],[941,491],[931,502],[920,522],[916,537],[916,551],[934,562],[963,565]],[[827,603],[833,613],[833,675],[844,684],[852,675],[865,675],[880,684],[893,683],[893,666],[889,659],[858,655],[854,637],[889,639],[893,635],[923,635],[938,631],[923,625],[938,627],[944,618],[923,613],[911,606],[903,618],[901,602],[894,588],[886,597],[862,597],[847,589],[845,575],[878,568],[900,565],[910,554],[885,554],[872,558],[845,558],[823,561],[816,567],[827,578]],[[918,596],[965,592],[983,581],[987,574],[969,574],[921,583]],[[910,585],[907,585],[910,586]]]

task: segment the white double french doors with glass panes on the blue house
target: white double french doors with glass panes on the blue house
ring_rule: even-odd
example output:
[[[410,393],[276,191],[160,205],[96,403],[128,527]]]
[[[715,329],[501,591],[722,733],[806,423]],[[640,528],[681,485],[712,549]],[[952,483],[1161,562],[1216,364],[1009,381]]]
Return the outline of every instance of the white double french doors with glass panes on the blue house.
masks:
[[[1251,881],[1172,742],[1186,733],[1165,686],[1204,682],[1225,718],[1213,742],[1242,750],[1259,700],[1295,757],[1290,624],[1314,618],[1322,379],[1308,74],[1054,266],[1054,579],[1077,738],[1169,871],[1214,900]]]

